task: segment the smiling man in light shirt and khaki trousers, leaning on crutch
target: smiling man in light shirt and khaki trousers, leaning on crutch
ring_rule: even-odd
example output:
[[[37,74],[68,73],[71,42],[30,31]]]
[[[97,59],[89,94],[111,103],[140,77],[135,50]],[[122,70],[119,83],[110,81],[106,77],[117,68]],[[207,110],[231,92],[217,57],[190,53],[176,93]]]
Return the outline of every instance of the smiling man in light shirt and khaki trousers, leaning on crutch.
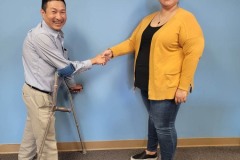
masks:
[[[72,66],[74,73],[80,73],[94,64],[106,63],[101,55],[82,62],[68,60],[61,31],[67,20],[64,0],[42,0],[41,15],[42,22],[29,31],[23,44],[23,100],[28,112],[19,160],[32,160],[39,151],[51,110],[55,72]],[[67,77],[67,84],[73,91],[81,90],[81,85],[75,84],[73,77]],[[45,141],[43,160],[58,159],[54,126],[55,117]]]

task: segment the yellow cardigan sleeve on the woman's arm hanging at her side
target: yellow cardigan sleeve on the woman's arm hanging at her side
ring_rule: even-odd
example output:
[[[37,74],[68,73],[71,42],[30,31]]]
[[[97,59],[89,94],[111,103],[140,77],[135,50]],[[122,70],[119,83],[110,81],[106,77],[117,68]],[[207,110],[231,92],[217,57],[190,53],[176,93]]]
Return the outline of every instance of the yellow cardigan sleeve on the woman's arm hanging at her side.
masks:
[[[192,14],[183,21],[179,42],[183,48],[184,60],[178,88],[189,91],[189,88],[193,87],[194,74],[204,50],[204,36]]]

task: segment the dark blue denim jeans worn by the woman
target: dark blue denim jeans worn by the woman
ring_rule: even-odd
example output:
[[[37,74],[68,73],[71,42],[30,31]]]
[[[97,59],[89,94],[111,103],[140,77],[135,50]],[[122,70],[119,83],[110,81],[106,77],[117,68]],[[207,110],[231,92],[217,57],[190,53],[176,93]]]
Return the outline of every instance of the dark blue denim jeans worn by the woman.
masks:
[[[172,100],[149,100],[148,92],[141,91],[149,113],[147,150],[156,152],[160,146],[161,160],[173,160],[177,146],[175,120],[180,107]]]

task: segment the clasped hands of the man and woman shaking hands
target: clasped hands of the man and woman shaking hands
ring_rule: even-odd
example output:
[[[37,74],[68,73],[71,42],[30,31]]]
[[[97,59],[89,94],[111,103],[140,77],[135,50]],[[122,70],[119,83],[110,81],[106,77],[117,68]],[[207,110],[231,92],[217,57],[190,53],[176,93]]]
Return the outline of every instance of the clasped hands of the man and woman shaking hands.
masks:
[[[103,51],[101,54],[91,59],[92,64],[105,65],[113,57],[110,49]]]

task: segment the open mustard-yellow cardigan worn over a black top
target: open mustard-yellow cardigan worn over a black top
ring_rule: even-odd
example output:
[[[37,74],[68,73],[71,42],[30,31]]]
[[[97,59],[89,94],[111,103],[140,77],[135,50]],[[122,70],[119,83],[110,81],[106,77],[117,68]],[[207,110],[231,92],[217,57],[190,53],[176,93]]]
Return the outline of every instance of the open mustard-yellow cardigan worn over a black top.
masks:
[[[157,12],[146,16],[129,39],[111,47],[113,57],[135,53],[135,64],[142,33],[155,15]],[[152,38],[149,99],[173,99],[177,88],[189,91],[193,87],[194,73],[203,50],[204,36],[196,18],[178,8],[176,14]]]

